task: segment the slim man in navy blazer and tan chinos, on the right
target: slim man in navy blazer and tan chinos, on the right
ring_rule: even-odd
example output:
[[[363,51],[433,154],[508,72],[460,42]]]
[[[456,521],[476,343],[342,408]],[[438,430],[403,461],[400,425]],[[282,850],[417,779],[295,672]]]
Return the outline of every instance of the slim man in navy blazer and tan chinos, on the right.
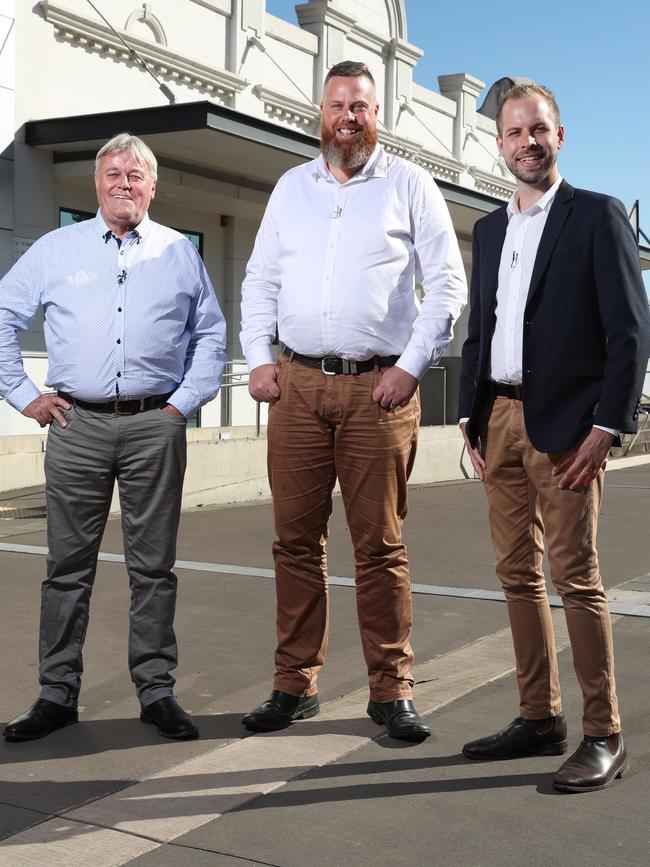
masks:
[[[542,571],[546,537],[584,699],[584,739],[553,785],[594,791],[629,764],[595,540],[609,449],[621,432],[636,430],[648,301],[623,205],[574,189],[558,172],[564,129],[553,94],[513,87],[496,120],[517,190],[474,228],[460,424],[485,483],[520,716],[463,753],[499,759],[566,751]]]

